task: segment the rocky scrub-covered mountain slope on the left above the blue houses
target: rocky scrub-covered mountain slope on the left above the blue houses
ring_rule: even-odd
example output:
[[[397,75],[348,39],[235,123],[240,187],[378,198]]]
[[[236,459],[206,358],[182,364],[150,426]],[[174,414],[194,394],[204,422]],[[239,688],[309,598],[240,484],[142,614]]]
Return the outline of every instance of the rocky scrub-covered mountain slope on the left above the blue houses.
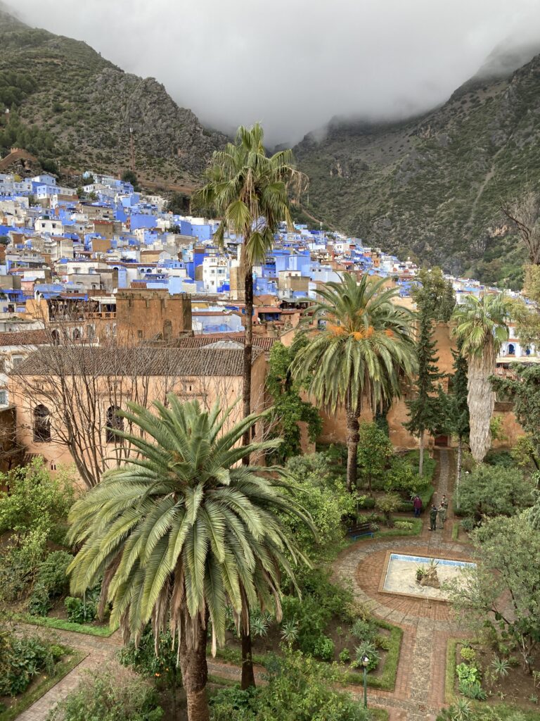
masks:
[[[226,140],[155,79],[125,73],[86,43],[30,28],[5,6],[0,45],[0,102],[24,125],[48,131],[65,167],[129,168],[131,127],[137,172],[189,185]]]

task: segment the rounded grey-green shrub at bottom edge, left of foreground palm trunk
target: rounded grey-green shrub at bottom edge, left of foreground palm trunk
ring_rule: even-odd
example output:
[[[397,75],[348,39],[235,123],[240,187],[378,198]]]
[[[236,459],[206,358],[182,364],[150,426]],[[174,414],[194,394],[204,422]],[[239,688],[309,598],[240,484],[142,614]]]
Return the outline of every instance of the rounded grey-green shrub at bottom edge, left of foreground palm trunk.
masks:
[[[66,699],[49,712],[47,721],[159,721],[163,709],[156,692],[127,671],[104,668],[89,673]]]

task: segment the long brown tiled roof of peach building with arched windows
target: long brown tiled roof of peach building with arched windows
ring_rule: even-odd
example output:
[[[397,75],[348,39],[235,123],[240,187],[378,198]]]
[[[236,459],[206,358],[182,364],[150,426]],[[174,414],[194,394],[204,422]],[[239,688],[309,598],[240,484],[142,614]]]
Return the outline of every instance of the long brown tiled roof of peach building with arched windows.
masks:
[[[262,351],[253,348],[253,361]],[[243,349],[215,348],[69,348],[35,350],[17,367],[17,375],[55,376],[242,376]]]

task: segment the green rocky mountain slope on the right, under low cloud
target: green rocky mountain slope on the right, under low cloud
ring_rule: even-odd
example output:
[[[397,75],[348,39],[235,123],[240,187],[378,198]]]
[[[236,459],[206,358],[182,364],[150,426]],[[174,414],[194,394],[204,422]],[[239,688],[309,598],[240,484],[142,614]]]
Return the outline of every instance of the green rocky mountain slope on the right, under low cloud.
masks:
[[[388,252],[518,282],[523,252],[500,202],[540,185],[540,56],[509,76],[488,60],[489,73],[421,118],[333,121],[322,141],[306,136],[294,154],[310,176],[310,212]]]

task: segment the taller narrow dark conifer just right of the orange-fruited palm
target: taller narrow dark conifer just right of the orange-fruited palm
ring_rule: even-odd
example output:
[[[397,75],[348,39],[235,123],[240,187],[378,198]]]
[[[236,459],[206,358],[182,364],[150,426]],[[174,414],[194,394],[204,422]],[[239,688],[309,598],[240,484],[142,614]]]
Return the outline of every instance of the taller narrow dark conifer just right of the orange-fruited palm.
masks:
[[[423,474],[424,442],[426,430],[435,433],[441,425],[441,403],[437,393],[437,381],[442,378],[438,371],[438,355],[433,340],[433,323],[430,306],[420,307],[416,361],[418,376],[415,382],[415,397],[407,402],[410,420],[405,428],[420,437],[420,461],[418,473]]]

